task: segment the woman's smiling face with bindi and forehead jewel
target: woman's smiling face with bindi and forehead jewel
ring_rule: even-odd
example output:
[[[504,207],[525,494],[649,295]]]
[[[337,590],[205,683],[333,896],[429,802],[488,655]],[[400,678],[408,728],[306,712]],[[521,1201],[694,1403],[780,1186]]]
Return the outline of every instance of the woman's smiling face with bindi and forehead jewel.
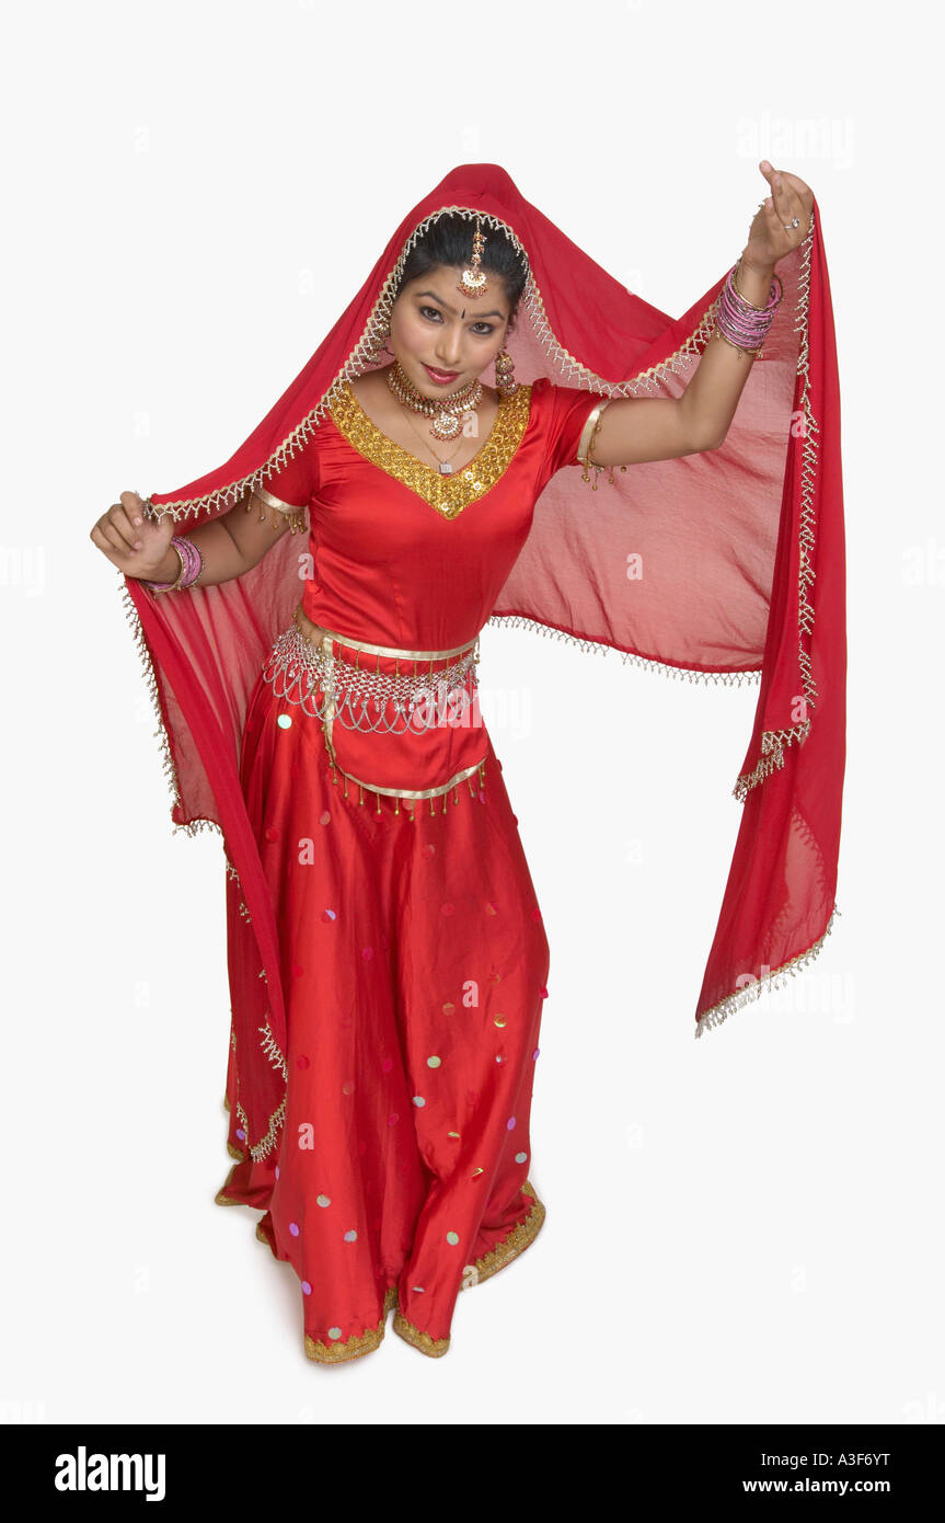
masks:
[[[435,265],[405,285],[391,308],[390,349],[423,396],[460,391],[505,343],[508,300],[502,280],[487,271],[485,295],[464,295],[457,289],[463,268]]]

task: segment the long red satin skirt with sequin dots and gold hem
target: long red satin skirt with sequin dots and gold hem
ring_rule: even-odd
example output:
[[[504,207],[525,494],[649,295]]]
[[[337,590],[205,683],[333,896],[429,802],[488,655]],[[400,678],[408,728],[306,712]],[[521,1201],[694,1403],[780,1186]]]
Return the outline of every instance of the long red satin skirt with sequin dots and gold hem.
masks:
[[[391,1308],[396,1333],[444,1354],[460,1290],[545,1218],[528,1171],[549,949],[482,726],[475,745],[472,777],[417,800],[348,781],[321,719],[262,673],[247,713],[240,778],[288,1040],[283,1054],[228,865],[237,1162],[216,1199],[265,1212],[256,1235],[298,1275],[304,1349],[321,1363],[377,1348]],[[240,1084],[268,1116],[253,1136]]]

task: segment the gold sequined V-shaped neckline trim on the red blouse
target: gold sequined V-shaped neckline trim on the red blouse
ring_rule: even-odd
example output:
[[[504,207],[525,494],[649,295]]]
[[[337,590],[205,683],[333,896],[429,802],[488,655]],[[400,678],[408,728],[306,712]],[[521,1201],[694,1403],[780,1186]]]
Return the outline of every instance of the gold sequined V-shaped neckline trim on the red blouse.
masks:
[[[332,399],[330,416],[353,449],[385,475],[394,477],[443,518],[458,518],[464,507],[485,496],[502,478],[519,448],[531,414],[531,385],[520,385],[511,396],[499,396],[499,411],[492,433],[473,458],[453,475],[441,475],[409,449],[377,428],[364,411],[347,381]]]

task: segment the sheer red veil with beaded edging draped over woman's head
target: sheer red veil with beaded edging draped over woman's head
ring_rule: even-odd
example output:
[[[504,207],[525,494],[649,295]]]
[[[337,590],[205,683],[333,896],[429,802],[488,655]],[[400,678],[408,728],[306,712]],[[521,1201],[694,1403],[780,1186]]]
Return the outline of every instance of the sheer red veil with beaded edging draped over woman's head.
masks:
[[[151,496],[187,533],[297,454],[342,382],[385,358],[377,340],[412,244],[443,212],[502,228],[528,263],[507,349],[517,381],[548,376],[610,398],[679,396],[714,327],[727,270],[673,321],[584,254],[496,164],[463,164],[400,222],[327,338],[216,471]],[[689,681],[755,681],[735,780],[743,818],[695,1007],[695,1034],[817,955],[834,915],[845,771],[846,579],[840,399],[826,259],[814,201],[778,265],[784,300],[724,445],[615,472],[598,492],[574,465],[537,500],[490,623]],[[750,361],[746,361],[750,362]],[[247,701],[298,603],[298,541],[245,576],[154,597],[123,579],[149,675],[175,829],[216,827],[239,874],[285,1048],[272,905],[239,786]],[[644,574],[628,574],[628,559]]]

